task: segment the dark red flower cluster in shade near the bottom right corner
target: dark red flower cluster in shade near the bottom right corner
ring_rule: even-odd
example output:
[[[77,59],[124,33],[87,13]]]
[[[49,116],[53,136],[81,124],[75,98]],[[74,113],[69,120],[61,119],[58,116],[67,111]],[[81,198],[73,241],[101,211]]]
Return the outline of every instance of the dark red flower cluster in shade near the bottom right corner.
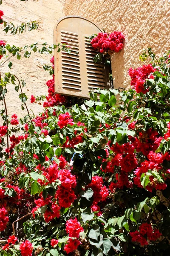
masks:
[[[146,236],[150,241],[156,241],[160,236],[161,233],[158,229],[153,229],[151,224],[142,223],[139,226],[139,231],[130,232],[130,236],[132,237],[133,242],[138,242],[139,244],[147,245],[147,239],[144,237]]]

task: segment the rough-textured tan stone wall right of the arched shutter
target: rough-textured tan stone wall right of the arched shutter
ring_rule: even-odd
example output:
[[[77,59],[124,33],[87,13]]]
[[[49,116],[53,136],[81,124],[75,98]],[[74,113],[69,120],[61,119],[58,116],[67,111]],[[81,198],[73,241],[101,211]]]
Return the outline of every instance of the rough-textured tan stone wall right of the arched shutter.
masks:
[[[115,87],[127,87],[127,71],[138,67],[143,48],[158,54],[170,49],[170,0],[63,0],[65,15],[80,15],[106,32],[122,31],[125,48],[112,57]]]

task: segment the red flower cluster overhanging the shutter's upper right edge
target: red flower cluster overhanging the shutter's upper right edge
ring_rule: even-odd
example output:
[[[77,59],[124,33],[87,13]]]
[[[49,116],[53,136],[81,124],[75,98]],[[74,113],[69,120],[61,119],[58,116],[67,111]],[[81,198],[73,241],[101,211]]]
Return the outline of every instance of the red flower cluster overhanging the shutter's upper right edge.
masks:
[[[99,33],[92,39],[92,47],[98,52],[119,52],[123,48],[125,36],[122,32],[114,31],[110,35],[108,33]]]

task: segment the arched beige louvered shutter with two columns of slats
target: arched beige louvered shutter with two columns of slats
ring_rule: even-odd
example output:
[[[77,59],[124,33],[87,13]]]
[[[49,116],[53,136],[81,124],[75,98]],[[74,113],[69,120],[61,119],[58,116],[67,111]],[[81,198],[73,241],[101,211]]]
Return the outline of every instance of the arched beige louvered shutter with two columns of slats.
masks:
[[[93,22],[66,16],[54,28],[54,44],[66,43],[71,54],[54,50],[55,92],[88,98],[89,91],[108,88],[108,72],[103,64],[94,63],[94,51],[89,36],[102,32]]]

